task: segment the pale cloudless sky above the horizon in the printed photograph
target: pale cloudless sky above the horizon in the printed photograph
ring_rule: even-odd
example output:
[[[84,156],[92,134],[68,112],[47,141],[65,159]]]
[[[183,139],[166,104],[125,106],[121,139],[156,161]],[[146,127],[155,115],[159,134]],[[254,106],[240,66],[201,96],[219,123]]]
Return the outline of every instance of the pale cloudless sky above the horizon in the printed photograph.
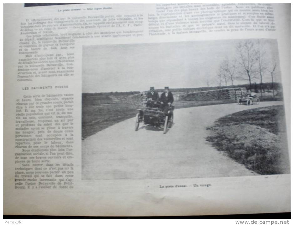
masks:
[[[145,91],[149,88],[218,86],[222,60],[232,60],[240,40],[83,46],[83,93]],[[263,39],[266,61],[278,60],[275,39]],[[277,62],[278,63],[278,62]],[[245,76],[246,78],[246,76]],[[259,79],[254,80],[259,83]],[[254,83],[253,81],[253,83]],[[280,82],[280,69],[276,69]],[[264,74],[263,82],[271,82]],[[248,83],[246,80],[234,84]]]

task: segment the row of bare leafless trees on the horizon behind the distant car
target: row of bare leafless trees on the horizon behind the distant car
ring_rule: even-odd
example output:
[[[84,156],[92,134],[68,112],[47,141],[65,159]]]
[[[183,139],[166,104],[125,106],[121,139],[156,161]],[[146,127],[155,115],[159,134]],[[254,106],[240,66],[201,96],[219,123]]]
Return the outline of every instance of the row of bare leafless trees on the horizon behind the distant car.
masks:
[[[271,76],[272,88],[276,71],[276,60],[270,59],[263,40],[242,40],[236,45],[236,56],[221,61],[217,71],[218,85],[234,85],[236,80],[248,80],[249,89],[253,81],[260,82],[261,96],[264,92],[263,78]],[[273,95],[274,95],[274,90]]]

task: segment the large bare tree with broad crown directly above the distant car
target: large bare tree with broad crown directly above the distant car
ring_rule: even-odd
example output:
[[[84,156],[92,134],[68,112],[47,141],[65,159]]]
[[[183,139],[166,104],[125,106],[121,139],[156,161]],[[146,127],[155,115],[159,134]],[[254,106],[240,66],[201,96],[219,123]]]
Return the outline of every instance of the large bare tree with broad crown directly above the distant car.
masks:
[[[251,91],[251,80],[254,75],[254,66],[256,64],[256,50],[252,40],[240,41],[236,46],[239,55],[239,64],[241,71],[245,72],[249,80],[249,89]]]

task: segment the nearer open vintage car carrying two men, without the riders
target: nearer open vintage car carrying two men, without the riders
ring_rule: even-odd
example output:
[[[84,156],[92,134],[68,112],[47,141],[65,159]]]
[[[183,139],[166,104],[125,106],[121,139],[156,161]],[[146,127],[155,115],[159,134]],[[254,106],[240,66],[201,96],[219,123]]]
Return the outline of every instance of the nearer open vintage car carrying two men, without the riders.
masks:
[[[173,125],[174,108],[174,106],[170,105],[168,112],[165,113],[160,108],[159,103],[149,101],[144,109],[137,109],[139,113],[136,115],[135,131],[138,131],[139,124],[143,122],[145,125],[163,128],[163,133],[165,134]]]

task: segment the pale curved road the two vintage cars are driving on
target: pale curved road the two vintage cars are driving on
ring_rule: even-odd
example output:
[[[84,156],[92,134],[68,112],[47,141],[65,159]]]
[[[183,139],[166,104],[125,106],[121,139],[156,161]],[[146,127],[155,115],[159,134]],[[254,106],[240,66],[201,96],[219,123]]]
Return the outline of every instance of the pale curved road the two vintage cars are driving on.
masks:
[[[254,172],[218,152],[205,141],[206,127],[227,114],[281,105],[223,104],[174,111],[174,125],[162,130],[134,118],[117,123],[82,141],[82,179],[163,179],[252,176]]]

